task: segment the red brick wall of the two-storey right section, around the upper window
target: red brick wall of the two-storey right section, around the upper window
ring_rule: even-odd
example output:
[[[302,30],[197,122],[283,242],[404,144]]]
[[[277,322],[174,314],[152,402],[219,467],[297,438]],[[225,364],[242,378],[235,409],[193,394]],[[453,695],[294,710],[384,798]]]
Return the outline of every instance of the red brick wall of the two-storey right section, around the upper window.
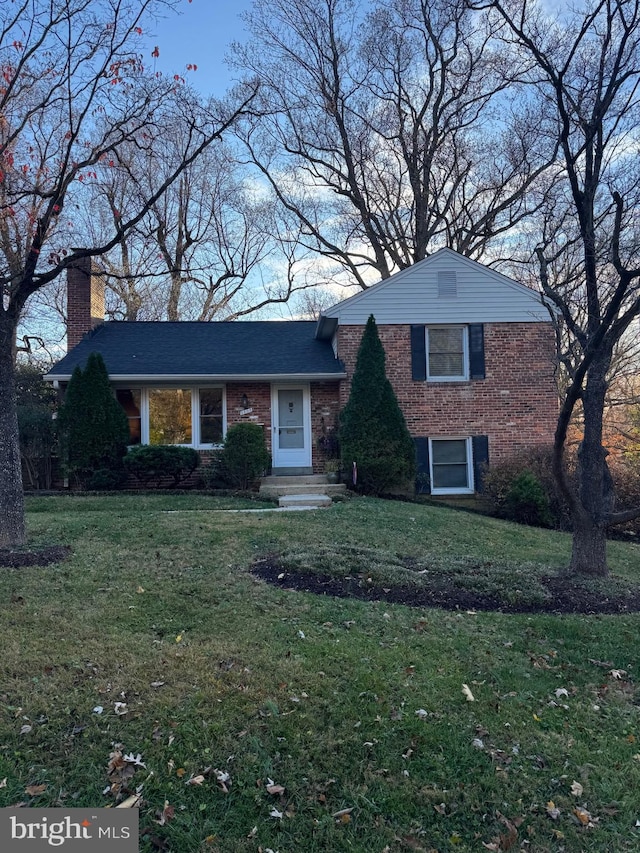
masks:
[[[363,326],[341,326],[338,355],[353,375]],[[490,462],[549,444],[558,413],[549,323],[487,323],[484,380],[414,382],[410,326],[378,326],[393,385],[413,436],[487,435]],[[340,389],[342,405],[349,381]]]

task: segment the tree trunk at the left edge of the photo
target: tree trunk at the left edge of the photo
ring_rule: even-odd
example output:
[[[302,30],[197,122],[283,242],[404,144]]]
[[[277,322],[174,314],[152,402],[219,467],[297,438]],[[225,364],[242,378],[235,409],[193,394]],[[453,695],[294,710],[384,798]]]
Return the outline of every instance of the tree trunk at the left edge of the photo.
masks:
[[[25,542],[15,338],[15,324],[0,310],[0,548],[15,548]]]

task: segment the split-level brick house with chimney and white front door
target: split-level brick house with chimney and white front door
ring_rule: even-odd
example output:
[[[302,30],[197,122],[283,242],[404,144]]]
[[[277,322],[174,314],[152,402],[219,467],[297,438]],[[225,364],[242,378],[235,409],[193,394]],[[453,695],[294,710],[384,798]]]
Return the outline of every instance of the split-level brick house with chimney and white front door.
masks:
[[[105,361],[132,443],[204,455],[234,423],[264,426],[274,474],[321,472],[369,315],[433,494],[472,493],[481,467],[550,444],[554,333],[539,295],[441,249],[323,312],[318,322],[102,322],[90,262],[69,271],[60,386]]]

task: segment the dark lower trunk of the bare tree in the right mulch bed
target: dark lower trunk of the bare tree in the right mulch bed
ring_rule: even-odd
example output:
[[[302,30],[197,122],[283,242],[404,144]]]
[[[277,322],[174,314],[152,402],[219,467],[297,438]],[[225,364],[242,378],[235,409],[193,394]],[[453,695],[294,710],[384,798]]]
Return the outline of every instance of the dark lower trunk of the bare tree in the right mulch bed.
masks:
[[[611,359],[606,347],[588,372],[582,395],[584,438],[578,450],[578,500],[573,512],[572,574],[605,577],[607,568],[607,520],[613,510],[614,492],[602,446],[602,419]]]

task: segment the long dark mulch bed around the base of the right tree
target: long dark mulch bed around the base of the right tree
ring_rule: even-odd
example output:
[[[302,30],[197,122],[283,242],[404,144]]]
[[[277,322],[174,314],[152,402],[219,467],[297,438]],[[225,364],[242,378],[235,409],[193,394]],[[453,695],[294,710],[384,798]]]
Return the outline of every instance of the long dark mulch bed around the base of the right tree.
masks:
[[[356,577],[336,578],[330,575],[291,571],[277,559],[258,560],[251,573],[273,586],[337,598],[363,601],[388,601],[408,607],[439,607],[443,610],[492,610],[501,613],[637,613],[640,612],[640,590],[606,597],[590,590],[588,584],[574,585],[570,578],[550,576],[541,582],[550,593],[546,603],[505,603],[496,597],[482,595],[455,585],[446,574],[438,574],[437,587],[416,590],[415,587],[391,588],[368,584]]]

